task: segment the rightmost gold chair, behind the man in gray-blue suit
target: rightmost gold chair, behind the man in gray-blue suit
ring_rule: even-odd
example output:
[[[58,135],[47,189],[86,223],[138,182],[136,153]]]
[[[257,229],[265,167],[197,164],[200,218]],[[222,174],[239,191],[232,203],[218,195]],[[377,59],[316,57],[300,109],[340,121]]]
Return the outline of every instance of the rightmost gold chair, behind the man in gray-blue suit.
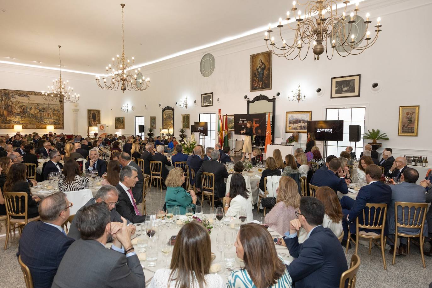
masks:
[[[400,207],[400,208],[399,208]],[[406,209],[407,208],[407,209]],[[410,254],[410,238],[419,238],[420,243],[420,255],[422,256],[423,268],[426,268],[425,256],[423,255],[423,244],[425,243],[425,237],[423,235],[423,228],[425,225],[426,212],[428,209],[428,203],[408,203],[408,202],[395,202],[394,203],[394,219],[396,221],[396,231],[394,234],[394,243],[397,243],[397,237],[408,238],[408,250],[407,254]],[[402,213],[402,219],[398,219],[398,214]],[[402,223],[399,223],[401,221]],[[417,234],[406,234],[398,232],[400,228],[419,229]],[[395,245],[396,246],[396,245]],[[395,247],[396,248],[396,247]],[[396,259],[396,249],[393,249],[393,262]]]

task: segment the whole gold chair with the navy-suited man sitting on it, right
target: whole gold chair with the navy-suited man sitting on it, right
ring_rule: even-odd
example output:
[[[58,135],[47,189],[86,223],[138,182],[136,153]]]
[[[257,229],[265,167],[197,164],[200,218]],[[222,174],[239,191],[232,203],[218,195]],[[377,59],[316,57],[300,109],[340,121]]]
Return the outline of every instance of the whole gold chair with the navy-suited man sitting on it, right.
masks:
[[[371,210],[373,210],[373,212]],[[385,242],[387,236],[384,236],[385,220],[387,218],[387,204],[366,203],[366,206],[362,211],[362,216],[362,223],[359,223],[359,217],[356,218],[356,240],[351,238],[351,233],[348,228],[348,241],[346,241],[345,253],[348,253],[349,241],[354,241],[356,243],[356,251],[354,254],[357,255],[359,249],[359,238],[366,238],[369,239],[369,255],[371,255],[372,240],[375,241],[375,239],[379,239],[380,245],[377,245],[381,246],[382,262],[384,264],[384,270],[387,270],[387,265],[385,263]],[[365,216],[368,216],[367,219]],[[378,234],[377,232],[359,231],[360,228],[375,229],[376,231],[381,230],[381,233]]]

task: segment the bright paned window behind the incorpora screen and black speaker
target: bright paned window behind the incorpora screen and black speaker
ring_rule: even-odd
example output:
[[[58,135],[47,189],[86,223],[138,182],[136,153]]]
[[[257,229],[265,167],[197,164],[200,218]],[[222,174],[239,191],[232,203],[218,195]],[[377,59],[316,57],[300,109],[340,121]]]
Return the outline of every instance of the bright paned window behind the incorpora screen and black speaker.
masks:
[[[353,147],[353,152],[356,152],[356,157],[359,158],[363,152],[363,134],[365,130],[365,107],[349,107],[349,108],[327,108],[326,120],[343,120],[343,141],[327,141],[327,155],[335,155],[339,157],[340,152],[345,151],[347,146]],[[351,142],[348,140],[349,125],[360,125],[360,141]],[[327,157],[325,155],[325,157]]]

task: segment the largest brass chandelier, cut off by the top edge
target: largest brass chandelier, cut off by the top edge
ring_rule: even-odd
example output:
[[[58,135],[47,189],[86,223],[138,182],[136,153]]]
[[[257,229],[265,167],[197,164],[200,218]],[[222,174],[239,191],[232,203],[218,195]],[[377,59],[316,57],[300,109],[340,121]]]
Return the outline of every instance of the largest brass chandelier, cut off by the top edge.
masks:
[[[340,13],[341,9],[337,8],[337,3],[343,1],[345,9]],[[366,20],[358,16],[357,13],[360,11],[359,3],[356,3],[356,9],[351,12],[349,16],[346,16],[348,0],[316,0],[308,1],[305,4],[299,4],[305,6],[305,13],[302,14],[301,10],[298,10],[295,5],[295,1],[292,2],[292,15],[295,17],[295,27],[291,27],[289,24],[290,12],[286,13],[287,25],[291,30],[295,31],[295,36],[292,44],[287,44],[282,37],[282,19],[279,18],[279,35],[282,44],[280,47],[276,46],[274,37],[271,36],[273,32],[271,25],[265,32],[265,41],[267,48],[273,54],[278,57],[285,57],[288,60],[294,60],[299,57],[300,60],[305,60],[309,50],[314,53],[314,60],[319,60],[320,55],[326,52],[327,58],[330,60],[333,58],[334,51],[342,57],[346,57],[349,54],[357,55],[365,51],[368,47],[371,47],[378,39],[378,34],[381,31],[380,21],[378,17],[377,25],[375,25],[375,37],[371,38],[371,33],[368,30],[369,24],[372,22],[369,20],[369,13],[366,14]],[[277,33],[277,32],[275,32]],[[270,41],[270,43],[269,43]],[[365,44],[360,46],[363,41]],[[327,42],[329,42],[327,44]],[[269,46],[270,45],[270,46]],[[329,53],[327,47],[331,49]],[[302,53],[302,50],[306,50]]]

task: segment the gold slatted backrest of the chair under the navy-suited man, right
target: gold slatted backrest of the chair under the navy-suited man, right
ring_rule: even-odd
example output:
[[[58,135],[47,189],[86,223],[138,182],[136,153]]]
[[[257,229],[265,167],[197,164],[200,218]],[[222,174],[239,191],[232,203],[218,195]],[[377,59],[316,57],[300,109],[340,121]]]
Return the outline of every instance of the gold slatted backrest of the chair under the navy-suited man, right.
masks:
[[[385,220],[387,218],[387,204],[366,203],[360,215],[363,215],[362,219],[360,221],[359,218],[361,217],[357,217],[356,219],[357,235],[359,235],[359,228],[381,229],[381,235],[384,234]]]

